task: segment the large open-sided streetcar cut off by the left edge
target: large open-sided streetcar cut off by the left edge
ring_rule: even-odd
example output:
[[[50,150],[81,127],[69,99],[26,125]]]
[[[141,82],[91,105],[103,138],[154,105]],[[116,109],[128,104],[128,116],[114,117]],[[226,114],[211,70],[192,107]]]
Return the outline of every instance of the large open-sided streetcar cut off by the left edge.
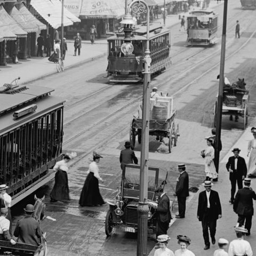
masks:
[[[12,205],[54,177],[63,137],[64,101],[18,79],[0,87],[0,184],[9,186]]]

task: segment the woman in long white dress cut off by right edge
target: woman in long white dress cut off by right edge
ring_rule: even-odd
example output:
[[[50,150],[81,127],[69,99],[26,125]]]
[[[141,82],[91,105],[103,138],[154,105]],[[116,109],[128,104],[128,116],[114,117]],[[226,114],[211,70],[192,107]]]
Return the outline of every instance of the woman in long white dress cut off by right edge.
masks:
[[[256,128],[252,127],[251,129],[253,139],[248,143],[248,154],[249,163],[248,163],[248,177],[256,177]]]

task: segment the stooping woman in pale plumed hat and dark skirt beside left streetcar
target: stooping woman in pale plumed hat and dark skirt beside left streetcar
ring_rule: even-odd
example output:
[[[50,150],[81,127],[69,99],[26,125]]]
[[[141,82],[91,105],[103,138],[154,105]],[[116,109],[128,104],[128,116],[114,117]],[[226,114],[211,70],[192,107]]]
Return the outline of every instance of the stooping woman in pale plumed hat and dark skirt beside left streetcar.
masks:
[[[71,158],[75,157],[76,153],[70,153],[64,155],[63,159],[57,162],[53,170],[57,171],[55,173],[55,183],[51,191],[50,197],[51,202],[57,201],[69,201],[69,187],[68,187],[68,165],[67,163]]]

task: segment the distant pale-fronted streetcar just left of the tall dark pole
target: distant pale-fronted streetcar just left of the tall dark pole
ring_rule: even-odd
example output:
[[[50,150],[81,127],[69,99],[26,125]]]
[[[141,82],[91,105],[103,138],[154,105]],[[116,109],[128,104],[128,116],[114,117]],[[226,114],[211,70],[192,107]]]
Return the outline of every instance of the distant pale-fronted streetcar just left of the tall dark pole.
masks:
[[[218,14],[213,10],[191,11],[187,21],[187,45],[209,46],[217,43]]]

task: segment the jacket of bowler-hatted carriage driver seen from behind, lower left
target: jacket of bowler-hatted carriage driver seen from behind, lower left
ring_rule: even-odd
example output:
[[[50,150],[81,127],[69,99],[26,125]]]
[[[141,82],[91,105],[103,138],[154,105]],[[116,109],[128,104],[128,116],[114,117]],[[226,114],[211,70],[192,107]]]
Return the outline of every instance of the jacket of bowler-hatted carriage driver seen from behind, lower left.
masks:
[[[18,237],[19,243],[40,245],[42,231],[39,222],[27,215],[24,219],[17,222],[14,230],[15,237]]]

